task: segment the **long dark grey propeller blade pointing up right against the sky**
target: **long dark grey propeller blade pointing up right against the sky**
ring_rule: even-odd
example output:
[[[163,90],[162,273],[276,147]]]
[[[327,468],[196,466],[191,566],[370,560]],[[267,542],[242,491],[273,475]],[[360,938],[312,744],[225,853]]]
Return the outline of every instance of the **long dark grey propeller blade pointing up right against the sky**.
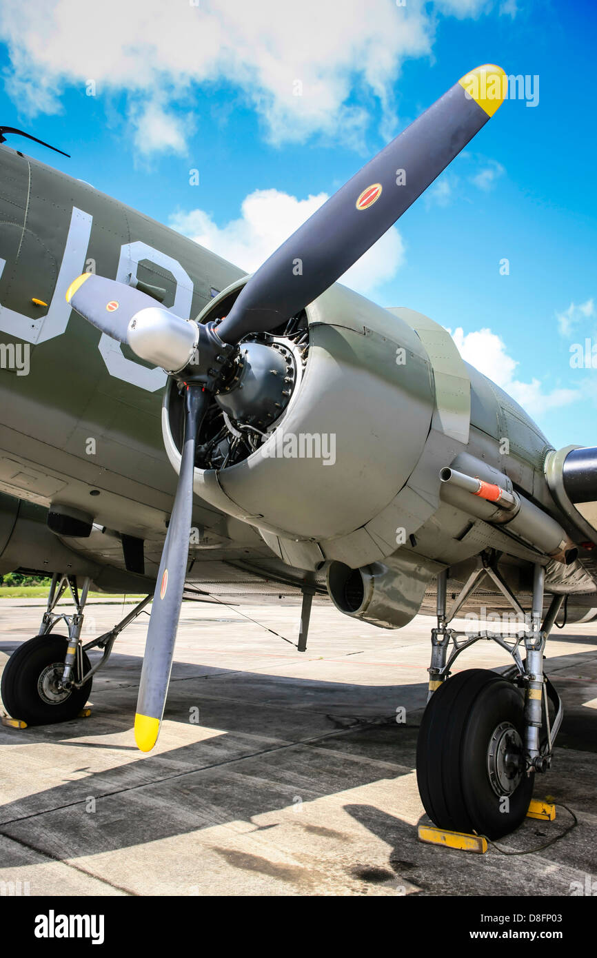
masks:
[[[219,338],[275,329],[342,276],[493,116],[503,77],[491,63],[472,70],[358,171],[260,266]]]

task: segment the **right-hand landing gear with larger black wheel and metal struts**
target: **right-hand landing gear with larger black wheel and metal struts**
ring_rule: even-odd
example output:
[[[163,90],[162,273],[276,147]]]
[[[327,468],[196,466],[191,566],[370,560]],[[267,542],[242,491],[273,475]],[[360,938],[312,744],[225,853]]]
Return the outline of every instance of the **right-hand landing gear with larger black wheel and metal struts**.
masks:
[[[524,627],[516,634],[470,635],[448,627],[485,574],[520,616]],[[554,597],[541,625],[542,566],[535,566],[533,607],[525,614],[494,559],[482,557],[447,613],[447,581],[446,570],[438,577],[437,627],[431,631],[429,696],[417,744],[417,781],[425,811],[439,828],[499,838],[513,832],[525,817],[535,773],[549,768],[562,724],[562,702],[543,675],[545,641],[562,597]],[[503,675],[471,669],[448,677],[460,652],[481,639],[507,650],[514,666]],[[526,649],[524,661],[521,645]]]

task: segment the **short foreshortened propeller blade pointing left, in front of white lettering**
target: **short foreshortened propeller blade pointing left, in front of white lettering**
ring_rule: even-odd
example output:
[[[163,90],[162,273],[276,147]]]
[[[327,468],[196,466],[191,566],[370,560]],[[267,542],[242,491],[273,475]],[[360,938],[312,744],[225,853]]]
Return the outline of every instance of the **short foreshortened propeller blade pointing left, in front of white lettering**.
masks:
[[[82,273],[66,290],[66,302],[98,330],[126,343],[126,330],[135,313],[155,308],[152,296],[134,286],[108,280],[95,273]]]

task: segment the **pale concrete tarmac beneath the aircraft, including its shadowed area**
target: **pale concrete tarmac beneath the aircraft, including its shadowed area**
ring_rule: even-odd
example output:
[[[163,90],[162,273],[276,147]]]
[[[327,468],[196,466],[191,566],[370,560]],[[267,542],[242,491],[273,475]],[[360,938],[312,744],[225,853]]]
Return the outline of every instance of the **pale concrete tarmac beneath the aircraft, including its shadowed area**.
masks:
[[[0,668],[37,633],[43,606],[0,601]],[[129,607],[90,602],[85,641]],[[20,882],[32,896],[597,894],[597,626],[548,642],[565,718],[535,794],[558,803],[557,818],[527,819],[498,844],[544,845],[571,821],[562,805],[577,827],[531,855],[471,855],[417,839],[428,821],[415,751],[433,621],[389,631],[314,605],[300,653],[263,627],[296,643],[298,613],[283,602],[183,604],[149,755],[132,732],[146,615],[96,675],[90,718],[0,726],[0,893]],[[506,665],[479,642],[454,671]]]

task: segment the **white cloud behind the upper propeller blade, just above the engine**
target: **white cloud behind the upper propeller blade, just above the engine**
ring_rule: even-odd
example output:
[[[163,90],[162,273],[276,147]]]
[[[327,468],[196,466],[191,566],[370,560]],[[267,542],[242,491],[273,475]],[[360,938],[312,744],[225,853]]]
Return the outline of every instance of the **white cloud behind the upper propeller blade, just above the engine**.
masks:
[[[242,201],[241,216],[225,226],[218,226],[204,210],[177,212],[169,225],[251,273],[327,199],[325,193],[297,199],[278,190],[255,190]],[[392,279],[403,258],[402,237],[392,226],[347,270],[342,282],[370,293]]]

